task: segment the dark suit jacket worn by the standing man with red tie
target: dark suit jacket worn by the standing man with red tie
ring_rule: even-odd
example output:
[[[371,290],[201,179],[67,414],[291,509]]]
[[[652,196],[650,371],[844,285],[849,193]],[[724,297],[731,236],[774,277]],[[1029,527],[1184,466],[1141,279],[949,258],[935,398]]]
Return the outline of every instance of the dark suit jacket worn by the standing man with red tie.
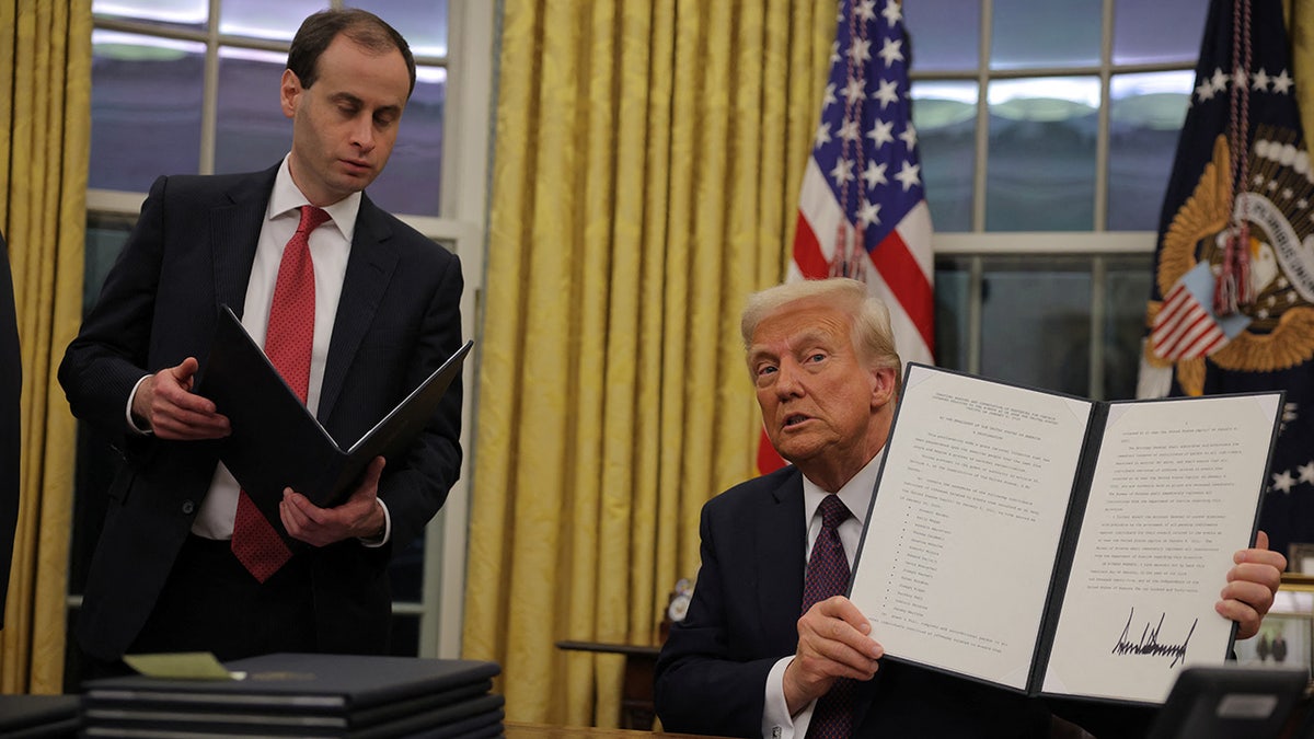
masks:
[[[214,442],[133,434],[129,394],[143,375],[188,356],[205,372],[219,306],[242,312],[276,174],[272,167],[158,179],[59,367],[74,413],[121,439],[126,460],[110,485],[78,617],[79,640],[92,656],[120,657],[141,631],[218,462]],[[340,446],[359,439],[460,346],[461,289],[455,255],[361,199],[318,409]],[[406,459],[385,469],[388,547],[348,540],[298,555],[311,560],[323,651],[385,648],[388,559],[423,531],[456,481],[460,416],[457,379]]]

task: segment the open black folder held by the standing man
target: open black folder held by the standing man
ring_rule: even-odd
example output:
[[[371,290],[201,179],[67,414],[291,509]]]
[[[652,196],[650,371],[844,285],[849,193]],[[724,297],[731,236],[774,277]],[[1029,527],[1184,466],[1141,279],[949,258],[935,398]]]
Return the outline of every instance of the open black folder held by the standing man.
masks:
[[[321,508],[351,494],[376,456],[403,454],[438,409],[474,342],[466,342],[348,450],[297,398],[264,351],[225,305],[197,392],[227,416],[233,434],[219,459],[283,533],[279,501],[292,488]]]

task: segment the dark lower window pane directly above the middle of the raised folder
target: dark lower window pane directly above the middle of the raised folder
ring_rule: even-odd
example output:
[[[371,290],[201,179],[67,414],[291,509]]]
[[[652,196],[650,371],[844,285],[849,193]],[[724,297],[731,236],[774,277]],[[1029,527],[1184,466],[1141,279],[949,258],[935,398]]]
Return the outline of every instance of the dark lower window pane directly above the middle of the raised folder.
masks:
[[[1087,260],[1045,255],[988,259],[983,280],[982,375],[1089,396]]]

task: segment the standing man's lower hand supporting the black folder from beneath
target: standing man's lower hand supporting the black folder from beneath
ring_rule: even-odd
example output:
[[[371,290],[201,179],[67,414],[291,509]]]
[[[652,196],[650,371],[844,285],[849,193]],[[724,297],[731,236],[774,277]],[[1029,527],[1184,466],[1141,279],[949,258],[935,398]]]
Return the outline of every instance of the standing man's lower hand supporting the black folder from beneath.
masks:
[[[376,456],[365,476],[342,505],[319,508],[310,498],[286,488],[279,504],[279,518],[293,539],[323,547],[344,539],[369,539],[384,530],[384,509],[378,502],[378,477],[384,458]]]

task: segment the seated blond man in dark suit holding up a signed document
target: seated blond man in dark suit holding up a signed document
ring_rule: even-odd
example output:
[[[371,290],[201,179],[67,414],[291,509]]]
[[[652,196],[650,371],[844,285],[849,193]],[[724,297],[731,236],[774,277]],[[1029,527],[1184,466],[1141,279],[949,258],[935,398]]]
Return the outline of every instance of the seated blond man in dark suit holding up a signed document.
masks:
[[[741,327],[766,434],[792,465],[703,506],[698,584],[657,661],[662,726],[784,739],[1049,736],[1043,702],[882,663],[848,598],[807,605],[816,560],[848,581],[894,419],[901,370],[884,305],[854,280],[786,283],[752,296]],[[1215,608],[1246,638],[1285,560],[1255,548],[1236,561]]]

